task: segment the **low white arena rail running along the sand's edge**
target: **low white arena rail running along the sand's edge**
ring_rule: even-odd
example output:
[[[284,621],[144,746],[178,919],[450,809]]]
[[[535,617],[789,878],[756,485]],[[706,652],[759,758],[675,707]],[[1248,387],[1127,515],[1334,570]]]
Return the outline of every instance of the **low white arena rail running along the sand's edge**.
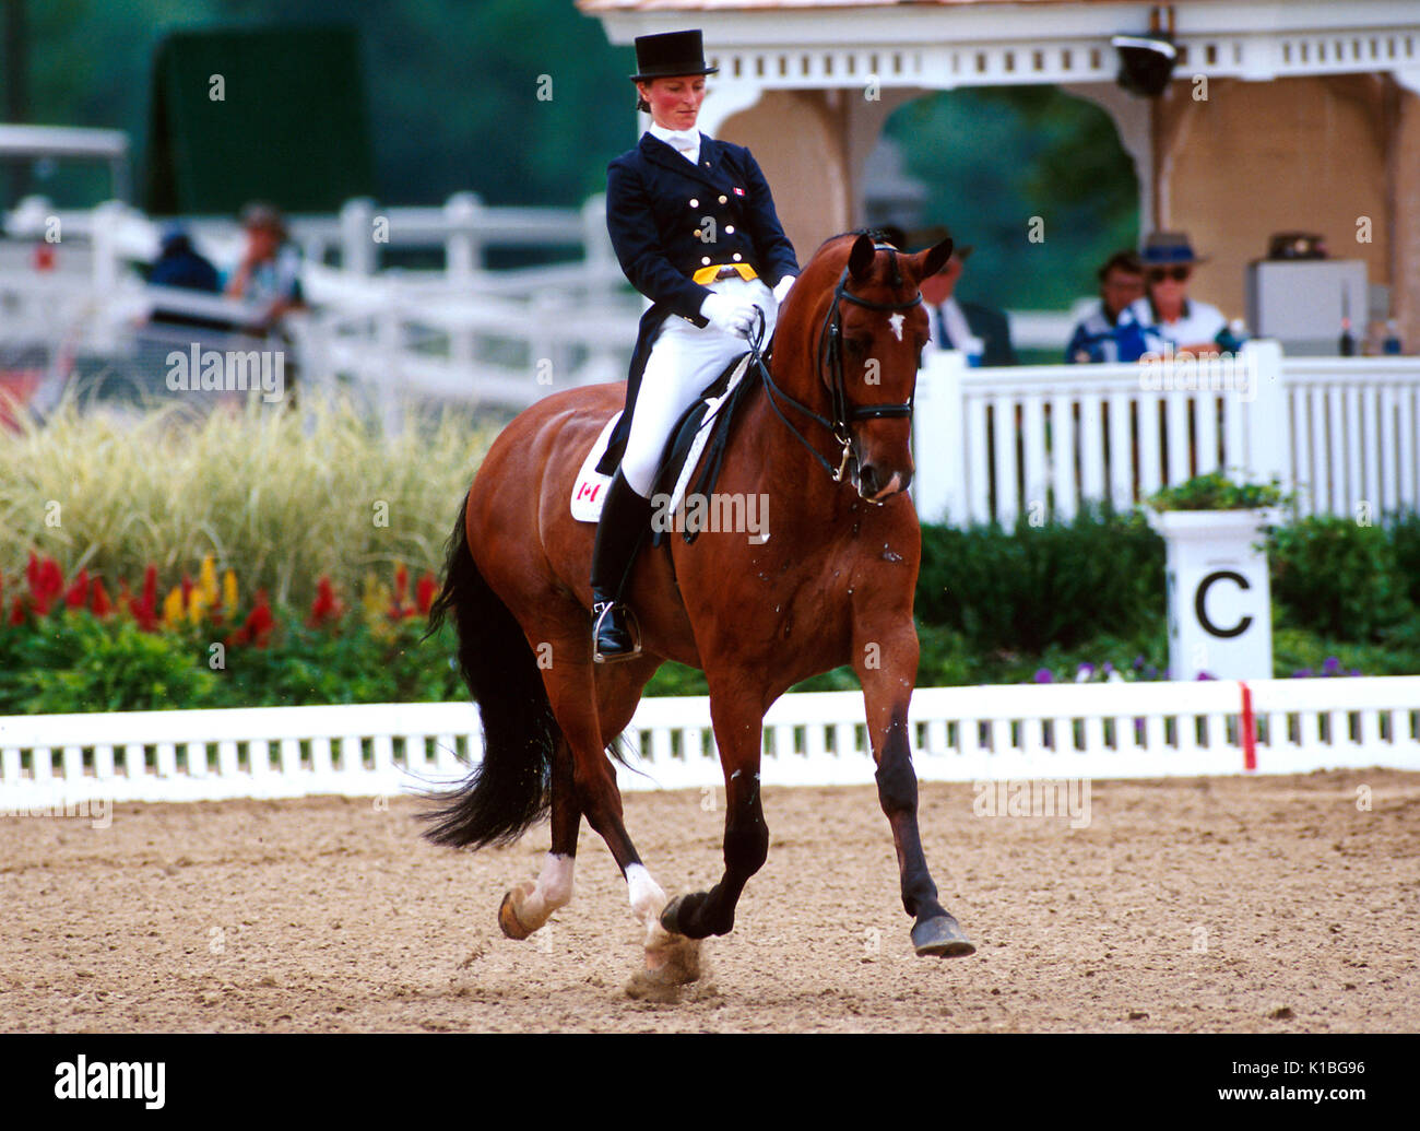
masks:
[[[1420,770],[1420,676],[1251,683],[923,688],[912,700],[924,781]],[[704,698],[646,699],[622,789],[723,784]],[[788,695],[765,718],[767,786],[873,781],[858,692]],[[251,708],[0,718],[0,814],[82,801],[393,796],[477,759],[467,703]]]

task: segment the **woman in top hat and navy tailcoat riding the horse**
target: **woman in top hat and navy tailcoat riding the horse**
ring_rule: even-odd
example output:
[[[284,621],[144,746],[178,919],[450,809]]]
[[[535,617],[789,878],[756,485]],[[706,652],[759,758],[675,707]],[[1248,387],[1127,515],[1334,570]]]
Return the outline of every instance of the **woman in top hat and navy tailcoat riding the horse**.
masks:
[[[612,247],[653,305],[632,354],[626,409],[598,466],[616,469],[592,554],[598,664],[640,652],[621,598],[672,428],[744,352],[755,307],[768,340],[799,270],[750,151],[696,131],[704,75],[717,70],[706,65],[697,30],[638,37],[632,80],[653,125],[606,169]]]

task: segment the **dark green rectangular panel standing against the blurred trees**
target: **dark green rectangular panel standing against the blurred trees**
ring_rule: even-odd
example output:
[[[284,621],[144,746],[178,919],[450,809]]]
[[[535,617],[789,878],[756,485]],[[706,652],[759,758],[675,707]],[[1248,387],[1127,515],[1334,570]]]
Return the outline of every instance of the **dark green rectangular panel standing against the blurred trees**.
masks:
[[[223,101],[214,101],[214,75]],[[149,213],[236,213],[253,199],[335,212],[375,195],[352,27],[176,31],[158,47]]]

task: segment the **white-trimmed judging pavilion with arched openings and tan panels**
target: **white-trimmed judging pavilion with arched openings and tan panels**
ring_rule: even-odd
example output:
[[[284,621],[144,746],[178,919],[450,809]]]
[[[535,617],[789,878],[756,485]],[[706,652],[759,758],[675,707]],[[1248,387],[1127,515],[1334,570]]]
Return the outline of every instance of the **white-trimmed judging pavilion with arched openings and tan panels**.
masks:
[[[1143,230],[1186,230],[1198,290],[1242,310],[1244,267],[1298,217],[1345,236],[1420,341],[1420,4],[1406,0],[577,0],[613,44],[700,27],[720,68],[700,128],[760,159],[795,247],[856,227],[888,117],[932,91],[1058,85],[1133,158]],[[1120,33],[1172,27],[1163,97],[1116,84]],[[1207,98],[1194,95],[1207,80]],[[643,119],[645,121],[645,119]],[[1350,246],[1358,217],[1372,239]],[[951,217],[943,217],[951,219]],[[956,217],[961,223],[970,217]]]

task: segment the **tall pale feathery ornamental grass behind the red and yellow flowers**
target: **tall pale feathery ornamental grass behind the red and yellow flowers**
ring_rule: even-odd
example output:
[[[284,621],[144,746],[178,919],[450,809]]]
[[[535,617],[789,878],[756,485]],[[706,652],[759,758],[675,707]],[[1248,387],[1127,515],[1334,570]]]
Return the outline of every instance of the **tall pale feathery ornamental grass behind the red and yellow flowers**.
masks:
[[[453,412],[390,435],[341,398],[204,416],[186,402],[119,415],[71,398],[0,433],[0,574],[23,574],[34,553],[112,595],[149,566],[173,575],[210,556],[293,607],[315,600],[322,575],[359,594],[396,564],[439,574],[494,435]]]

